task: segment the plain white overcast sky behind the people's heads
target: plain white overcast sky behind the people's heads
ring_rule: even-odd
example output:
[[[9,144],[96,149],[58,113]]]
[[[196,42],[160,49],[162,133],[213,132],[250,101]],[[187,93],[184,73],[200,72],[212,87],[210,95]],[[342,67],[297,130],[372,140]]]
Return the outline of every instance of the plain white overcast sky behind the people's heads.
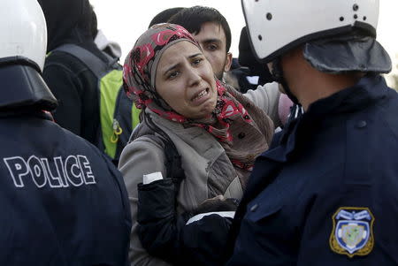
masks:
[[[158,12],[170,7],[211,6],[220,11],[232,31],[231,51],[238,56],[241,27],[244,26],[240,0],[89,0],[94,5],[98,27],[112,41],[119,42],[122,59],[133,48],[135,40],[147,29]],[[294,1],[294,0],[292,0]],[[331,0],[333,1],[333,0]],[[380,0],[378,39],[395,61],[398,51],[398,1]],[[122,61],[123,62],[123,61]]]

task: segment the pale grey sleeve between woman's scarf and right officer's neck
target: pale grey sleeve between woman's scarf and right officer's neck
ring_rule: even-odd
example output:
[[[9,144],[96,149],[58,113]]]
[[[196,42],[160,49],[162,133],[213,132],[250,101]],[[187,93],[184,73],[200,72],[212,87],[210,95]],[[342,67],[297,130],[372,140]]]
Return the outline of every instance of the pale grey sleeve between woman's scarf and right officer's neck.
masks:
[[[278,83],[272,82],[258,86],[255,90],[249,89],[246,94],[256,106],[272,119],[275,127],[282,125],[279,118],[279,87]]]

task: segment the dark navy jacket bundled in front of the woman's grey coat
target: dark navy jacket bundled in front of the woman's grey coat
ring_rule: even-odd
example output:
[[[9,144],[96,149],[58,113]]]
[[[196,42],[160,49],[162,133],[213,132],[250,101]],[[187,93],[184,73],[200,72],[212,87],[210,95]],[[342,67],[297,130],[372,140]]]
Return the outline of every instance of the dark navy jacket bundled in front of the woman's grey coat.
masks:
[[[232,218],[210,214],[192,223],[200,213],[234,211],[232,201],[217,201],[197,211],[178,215],[178,182],[161,179],[138,186],[138,234],[142,247],[172,265],[220,265]]]

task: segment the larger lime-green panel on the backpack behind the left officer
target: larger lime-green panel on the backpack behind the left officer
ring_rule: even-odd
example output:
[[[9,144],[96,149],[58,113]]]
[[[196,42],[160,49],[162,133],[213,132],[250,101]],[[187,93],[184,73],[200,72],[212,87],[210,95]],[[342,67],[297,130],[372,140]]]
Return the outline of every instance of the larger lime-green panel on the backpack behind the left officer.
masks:
[[[115,157],[118,142],[112,143],[113,116],[115,113],[116,100],[119,88],[123,80],[119,70],[112,70],[107,73],[100,82],[100,118],[101,130],[103,133],[103,145],[105,153],[111,158]],[[116,85],[115,85],[116,84]]]

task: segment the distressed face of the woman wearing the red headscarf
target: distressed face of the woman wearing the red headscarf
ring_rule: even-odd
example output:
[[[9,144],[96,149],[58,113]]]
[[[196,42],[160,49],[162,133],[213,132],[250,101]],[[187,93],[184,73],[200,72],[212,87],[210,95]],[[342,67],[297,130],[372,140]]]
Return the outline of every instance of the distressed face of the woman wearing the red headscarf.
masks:
[[[177,42],[157,65],[157,93],[185,118],[206,118],[217,103],[217,88],[209,61],[193,43]]]

